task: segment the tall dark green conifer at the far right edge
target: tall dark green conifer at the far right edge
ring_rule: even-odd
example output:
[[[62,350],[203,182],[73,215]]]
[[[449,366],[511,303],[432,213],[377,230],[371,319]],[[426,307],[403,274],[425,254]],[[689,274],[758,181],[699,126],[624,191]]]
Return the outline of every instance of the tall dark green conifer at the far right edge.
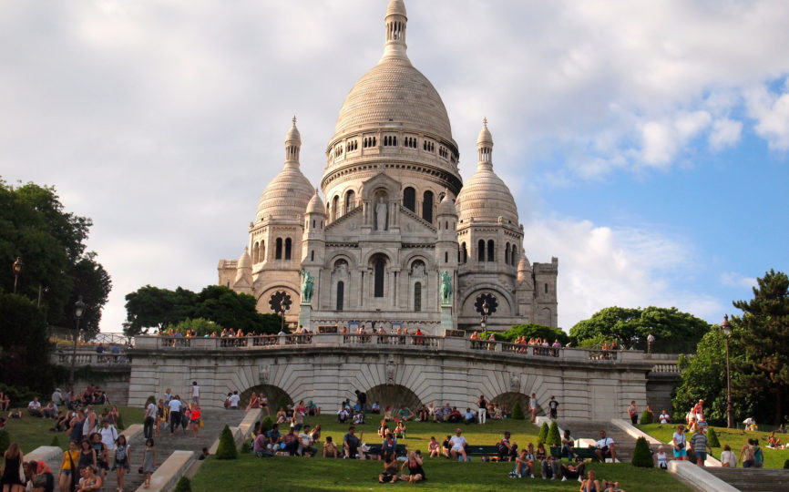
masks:
[[[738,388],[772,404],[772,420],[779,425],[789,404],[789,276],[770,270],[757,283],[751,301],[733,302],[743,311],[732,325],[751,370]]]

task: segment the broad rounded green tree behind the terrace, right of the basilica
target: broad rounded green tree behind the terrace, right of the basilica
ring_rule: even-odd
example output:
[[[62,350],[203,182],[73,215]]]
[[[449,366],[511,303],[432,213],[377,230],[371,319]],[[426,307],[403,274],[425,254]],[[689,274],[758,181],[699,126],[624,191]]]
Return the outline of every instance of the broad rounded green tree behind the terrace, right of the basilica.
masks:
[[[647,336],[652,333],[657,343],[671,348],[672,343],[674,346],[682,346],[698,342],[709,327],[710,324],[704,320],[673,307],[609,307],[592,314],[588,320],[576,323],[570,329],[569,336],[576,345],[603,337],[617,340],[620,346],[645,346]]]

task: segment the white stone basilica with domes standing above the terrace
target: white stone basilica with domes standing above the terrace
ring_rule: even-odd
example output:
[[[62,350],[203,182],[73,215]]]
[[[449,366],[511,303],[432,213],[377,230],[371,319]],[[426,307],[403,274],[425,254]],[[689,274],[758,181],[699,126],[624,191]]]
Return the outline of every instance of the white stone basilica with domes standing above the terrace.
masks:
[[[220,261],[219,282],[253,295],[261,313],[290,300],[287,322],[309,320],[313,331],[383,323],[440,334],[449,316],[453,328],[477,329],[486,301],[490,329],[556,327],[558,260],[528,261],[487,121],[463,184],[444,103],[405,53],[406,20],[403,0],[390,0],[384,56],[345,97],[326,149],[327,203],[302,174],[293,118],[284,168],[262,193],[241,258]],[[313,295],[302,299],[307,273]]]

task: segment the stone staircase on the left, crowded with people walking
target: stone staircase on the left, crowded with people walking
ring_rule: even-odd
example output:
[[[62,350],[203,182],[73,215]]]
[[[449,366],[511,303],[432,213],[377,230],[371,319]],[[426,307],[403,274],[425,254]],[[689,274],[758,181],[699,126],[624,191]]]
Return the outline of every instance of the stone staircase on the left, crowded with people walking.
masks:
[[[244,412],[242,410],[203,410],[203,426],[200,428],[200,433],[197,437],[193,437],[189,430],[183,433],[181,427],[176,431],[175,436],[169,435],[169,426],[160,429],[159,437],[154,437],[153,439],[156,445],[157,466],[161,465],[175,450],[194,451],[195,458],[197,458],[202,453],[203,447],[210,447],[219,438],[220,432],[225,425],[239,425],[243,417]],[[145,437],[142,436],[142,433],[131,439],[129,446],[131,470],[126,474],[123,489],[137,490],[145,479],[143,475],[137,473],[139,466],[142,465],[142,452],[145,448]],[[108,471],[104,490],[113,491],[117,488],[118,478],[116,472]]]

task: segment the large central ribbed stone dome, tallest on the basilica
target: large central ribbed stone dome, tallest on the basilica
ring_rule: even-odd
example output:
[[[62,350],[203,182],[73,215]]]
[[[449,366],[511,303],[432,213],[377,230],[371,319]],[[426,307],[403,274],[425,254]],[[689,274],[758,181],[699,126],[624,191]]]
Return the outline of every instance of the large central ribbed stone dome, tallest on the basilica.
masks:
[[[384,57],[345,97],[334,135],[395,125],[452,141],[449,117],[433,84],[407,58]]]

